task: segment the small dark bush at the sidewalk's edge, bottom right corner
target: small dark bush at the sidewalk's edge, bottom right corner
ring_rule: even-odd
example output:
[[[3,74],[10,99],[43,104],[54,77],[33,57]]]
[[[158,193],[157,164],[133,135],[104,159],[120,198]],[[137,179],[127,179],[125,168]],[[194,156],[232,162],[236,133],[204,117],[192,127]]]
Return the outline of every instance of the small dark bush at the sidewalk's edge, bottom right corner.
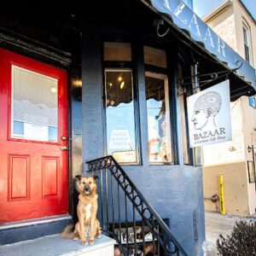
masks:
[[[255,256],[256,222],[236,222],[230,235],[218,237],[217,248],[222,256]]]

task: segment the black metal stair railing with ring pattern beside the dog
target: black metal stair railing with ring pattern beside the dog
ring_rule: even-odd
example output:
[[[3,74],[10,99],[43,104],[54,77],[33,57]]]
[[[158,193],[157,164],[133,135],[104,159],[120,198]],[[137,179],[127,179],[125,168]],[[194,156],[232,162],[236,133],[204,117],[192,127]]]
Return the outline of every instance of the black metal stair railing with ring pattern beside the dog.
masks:
[[[188,255],[112,155],[86,162],[98,179],[98,218],[124,255]]]

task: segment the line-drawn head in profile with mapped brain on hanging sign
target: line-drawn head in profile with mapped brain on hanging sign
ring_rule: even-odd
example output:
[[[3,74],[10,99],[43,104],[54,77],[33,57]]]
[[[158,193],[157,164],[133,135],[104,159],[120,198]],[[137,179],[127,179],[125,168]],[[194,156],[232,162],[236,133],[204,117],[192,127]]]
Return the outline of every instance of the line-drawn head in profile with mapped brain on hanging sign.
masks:
[[[195,130],[204,130],[212,125],[216,127],[215,116],[221,108],[221,96],[216,91],[209,91],[200,96],[194,105],[193,122]]]

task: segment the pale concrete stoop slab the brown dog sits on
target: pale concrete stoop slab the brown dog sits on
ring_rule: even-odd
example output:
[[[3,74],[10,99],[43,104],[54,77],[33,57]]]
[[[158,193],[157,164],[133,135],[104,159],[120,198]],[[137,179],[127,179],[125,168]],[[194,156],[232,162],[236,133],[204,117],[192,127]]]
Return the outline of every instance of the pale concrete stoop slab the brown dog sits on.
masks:
[[[8,256],[113,256],[115,241],[108,236],[95,240],[93,246],[82,246],[81,240],[62,239],[59,235],[44,236],[0,246],[0,255]]]

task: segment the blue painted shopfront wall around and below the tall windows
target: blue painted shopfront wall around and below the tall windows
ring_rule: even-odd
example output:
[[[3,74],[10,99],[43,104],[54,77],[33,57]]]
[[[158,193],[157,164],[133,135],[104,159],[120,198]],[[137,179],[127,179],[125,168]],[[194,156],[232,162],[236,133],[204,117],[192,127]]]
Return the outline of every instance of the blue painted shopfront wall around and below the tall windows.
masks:
[[[84,27],[82,39],[82,112],[83,158],[93,160],[103,156],[102,66],[101,37],[96,28]],[[137,39],[137,62],[143,61],[143,44]],[[183,165],[180,102],[177,99],[177,73],[172,73],[173,123],[176,126],[176,166],[148,164],[148,130],[143,65],[137,65],[137,87],[140,117],[141,166],[123,166],[148,202],[169,219],[174,236],[189,256],[203,255],[205,239],[202,169]],[[177,62],[174,65],[177,70]],[[87,166],[84,163],[84,170]]]

